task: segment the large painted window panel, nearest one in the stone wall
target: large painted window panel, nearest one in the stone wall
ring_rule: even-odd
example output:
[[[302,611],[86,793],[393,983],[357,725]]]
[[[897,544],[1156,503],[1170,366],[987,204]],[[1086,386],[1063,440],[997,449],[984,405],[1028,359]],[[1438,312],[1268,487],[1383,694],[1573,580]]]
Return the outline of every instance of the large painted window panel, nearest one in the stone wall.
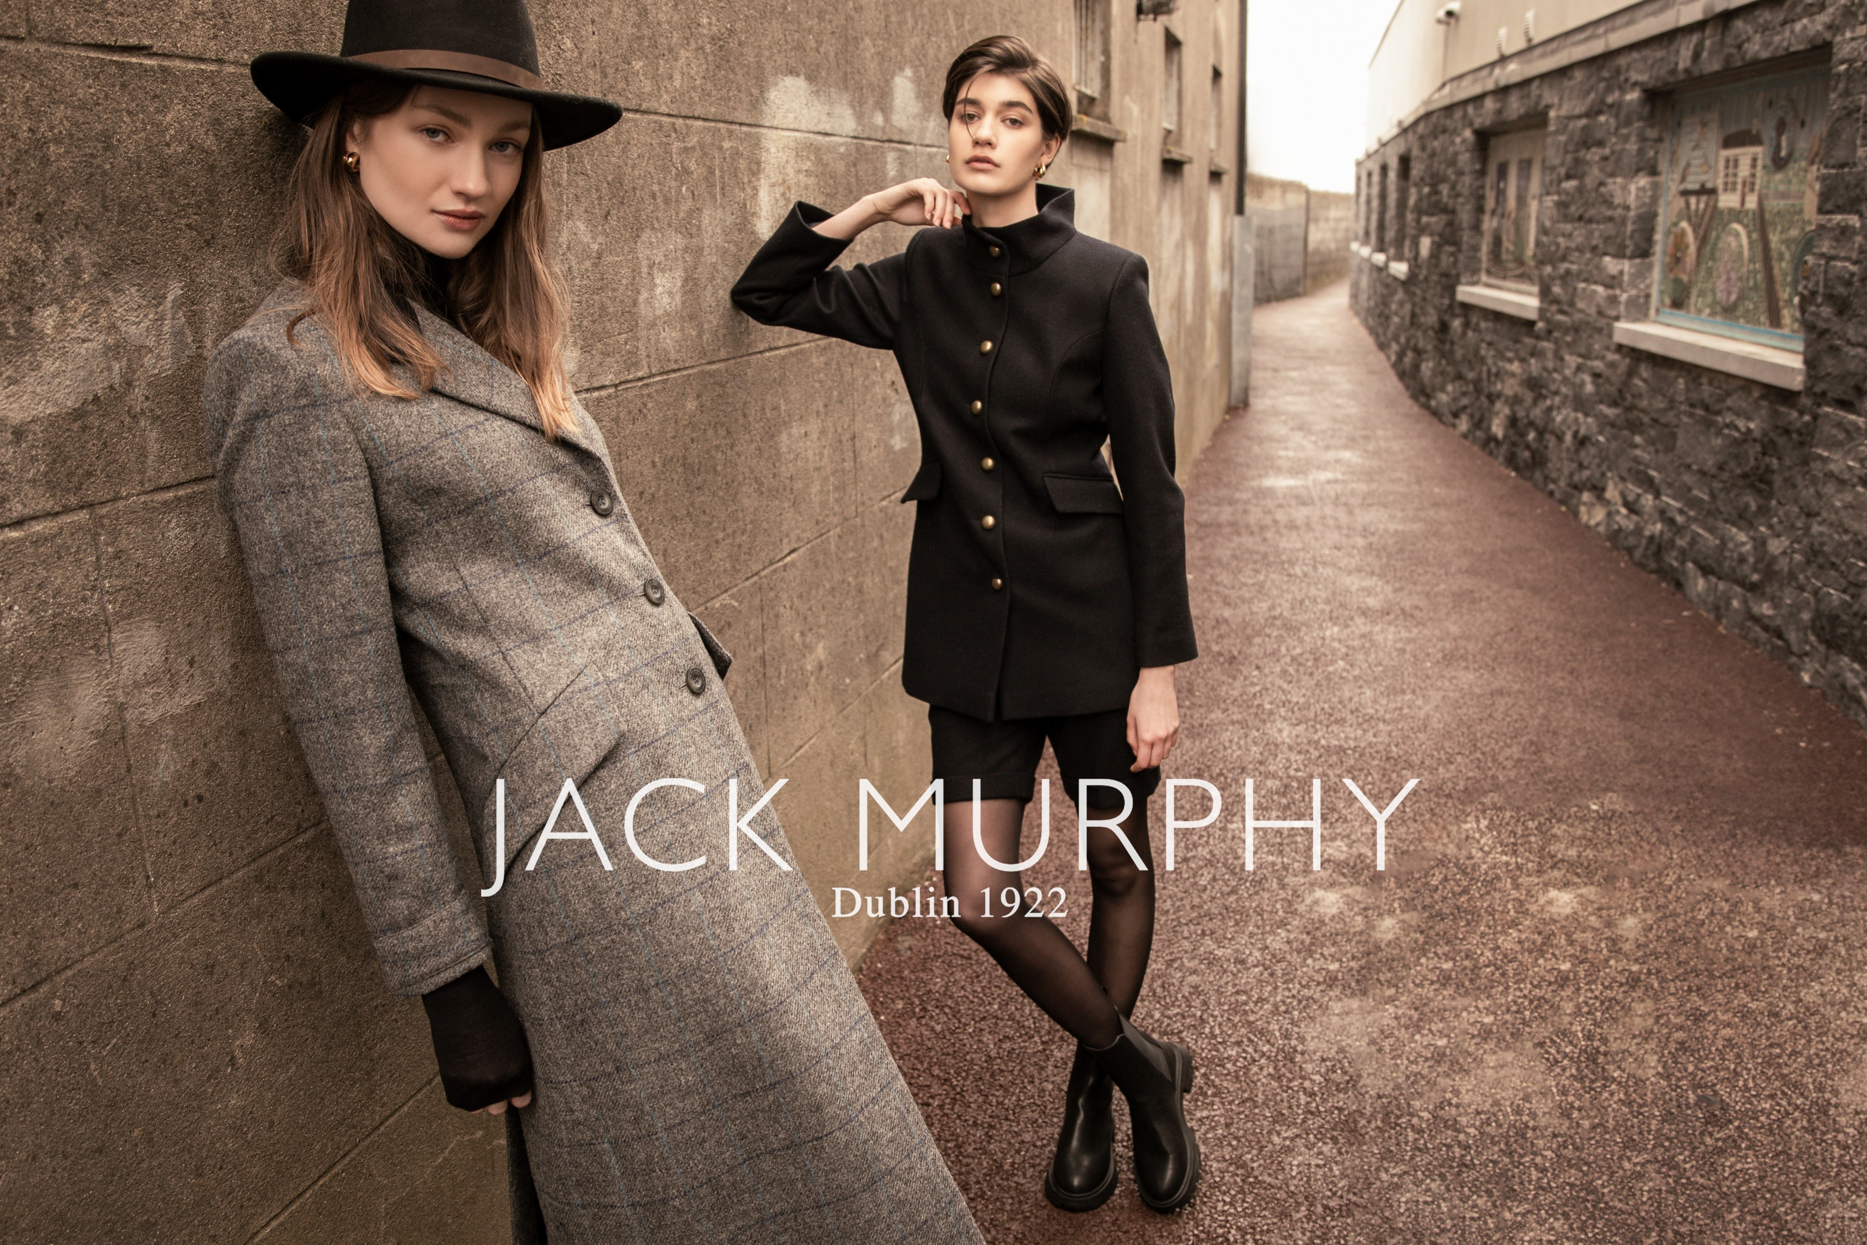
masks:
[[[1654,319],[1802,349],[1826,125],[1826,69],[1675,101]]]

